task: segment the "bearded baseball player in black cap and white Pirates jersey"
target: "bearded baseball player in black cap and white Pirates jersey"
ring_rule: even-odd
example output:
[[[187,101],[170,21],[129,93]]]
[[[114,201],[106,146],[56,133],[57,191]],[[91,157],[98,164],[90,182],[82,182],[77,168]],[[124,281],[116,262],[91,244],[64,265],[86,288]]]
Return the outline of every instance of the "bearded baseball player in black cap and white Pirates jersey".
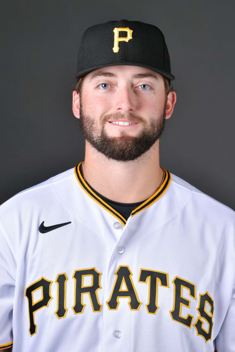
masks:
[[[0,350],[234,352],[235,212],[159,164],[163,33],[88,28],[76,78],[84,160],[0,207]]]

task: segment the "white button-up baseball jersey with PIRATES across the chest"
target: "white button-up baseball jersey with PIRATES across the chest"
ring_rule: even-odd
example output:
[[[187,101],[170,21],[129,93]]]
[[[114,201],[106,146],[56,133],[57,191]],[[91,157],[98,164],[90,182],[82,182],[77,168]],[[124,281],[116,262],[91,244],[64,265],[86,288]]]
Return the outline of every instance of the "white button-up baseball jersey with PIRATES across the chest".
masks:
[[[1,205],[0,349],[235,351],[235,212],[165,172],[128,219],[81,163]]]

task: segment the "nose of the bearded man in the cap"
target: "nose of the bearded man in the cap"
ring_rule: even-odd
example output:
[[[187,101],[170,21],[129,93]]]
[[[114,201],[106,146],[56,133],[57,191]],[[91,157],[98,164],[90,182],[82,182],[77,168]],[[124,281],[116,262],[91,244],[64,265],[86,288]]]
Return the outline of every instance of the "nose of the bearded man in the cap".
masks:
[[[136,105],[135,96],[131,88],[122,87],[118,89],[116,101],[115,101],[116,111],[119,111],[119,112],[134,111],[135,105]]]

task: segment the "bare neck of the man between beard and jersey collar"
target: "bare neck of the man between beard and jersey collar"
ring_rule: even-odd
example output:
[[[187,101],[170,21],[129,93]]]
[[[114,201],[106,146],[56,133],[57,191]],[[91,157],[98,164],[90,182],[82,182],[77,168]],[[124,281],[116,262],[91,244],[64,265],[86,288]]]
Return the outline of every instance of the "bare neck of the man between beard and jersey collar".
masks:
[[[137,160],[117,161],[97,152],[87,141],[83,173],[102,196],[121,203],[136,203],[151,197],[161,186],[159,140]]]

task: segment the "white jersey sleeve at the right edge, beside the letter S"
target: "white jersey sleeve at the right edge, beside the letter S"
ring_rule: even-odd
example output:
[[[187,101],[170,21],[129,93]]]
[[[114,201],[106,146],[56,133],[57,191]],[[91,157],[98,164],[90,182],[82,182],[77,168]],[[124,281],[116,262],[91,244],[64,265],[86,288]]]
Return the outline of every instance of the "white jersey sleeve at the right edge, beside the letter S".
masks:
[[[217,352],[235,351],[235,285],[225,319],[215,339],[215,347]]]

